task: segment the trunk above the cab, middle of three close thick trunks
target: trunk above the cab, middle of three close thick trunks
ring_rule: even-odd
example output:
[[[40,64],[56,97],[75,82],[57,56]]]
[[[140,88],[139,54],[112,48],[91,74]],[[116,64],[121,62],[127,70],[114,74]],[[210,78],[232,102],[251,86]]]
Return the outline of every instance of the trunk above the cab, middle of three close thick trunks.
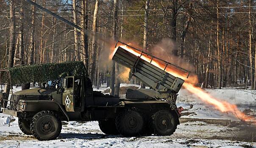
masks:
[[[88,30],[88,1],[82,0],[82,15],[81,15],[81,25],[83,31],[81,32],[82,50],[83,50],[83,63],[88,70],[89,57],[88,57],[88,36],[85,34],[85,30]]]

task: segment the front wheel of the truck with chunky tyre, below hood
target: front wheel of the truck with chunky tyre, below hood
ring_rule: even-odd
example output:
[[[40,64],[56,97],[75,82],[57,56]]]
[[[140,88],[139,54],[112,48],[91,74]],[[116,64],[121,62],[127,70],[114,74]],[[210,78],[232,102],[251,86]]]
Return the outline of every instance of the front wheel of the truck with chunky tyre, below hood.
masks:
[[[61,133],[61,120],[52,111],[41,111],[33,116],[30,129],[40,141],[54,140]]]

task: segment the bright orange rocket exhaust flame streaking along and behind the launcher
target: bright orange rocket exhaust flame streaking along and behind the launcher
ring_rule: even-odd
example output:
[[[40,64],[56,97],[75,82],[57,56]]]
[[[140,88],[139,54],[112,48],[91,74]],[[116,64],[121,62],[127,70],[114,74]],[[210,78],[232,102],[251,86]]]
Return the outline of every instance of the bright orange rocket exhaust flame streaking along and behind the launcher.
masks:
[[[256,120],[252,116],[245,115],[245,113],[241,112],[238,108],[237,105],[235,104],[230,104],[226,101],[221,101],[220,99],[216,99],[213,96],[210,96],[208,93],[206,93],[203,89],[195,86],[198,82],[198,78],[196,75],[189,76],[187,78],[187,74],[184,74],[184,71],[182,72],[181,70],[175,68],[174,66],[168,66],[165,68],[165,65],[161,62],[159,62],[156,59],[153,59],[148,57],[147,55],[143,55],[141,52],[132,49],[130,47],[127,47],[125,45],[120,45],[119,47],[122,47],[128,52],[131,52],[132,54],[136,56],[140,56],[143,60],[153,64],[154,66],[159,67],[160,69],[172,74],[175,77],[179,77],[181,79],[184,79],[185,82],[183,84],[183,87],[188,90],[190,93],[195,94],[198,96],[198,98],[205,102],[206,104],[212,105],[215,109],[219,110],[220,112],[230,112],[234,116],[236,116],[238,119],[242,121],[253,121],[253,123],[256,123]],[[115,52],[117,51],[116,47],[112,54],[109,56],[110,59],[114,56]]]

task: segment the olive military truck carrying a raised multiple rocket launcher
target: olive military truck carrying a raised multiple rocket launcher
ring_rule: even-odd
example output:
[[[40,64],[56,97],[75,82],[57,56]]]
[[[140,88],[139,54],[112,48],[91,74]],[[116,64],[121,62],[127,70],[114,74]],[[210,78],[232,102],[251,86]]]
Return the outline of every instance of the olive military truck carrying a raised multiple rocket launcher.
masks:
[[[26,1],[48,12],[36,3]],[[129,47],[141,52],[141,56],[147,55],[166,64],[166,67],[174,66],[189,75],[189,71],[185,69],[140,49]],[[24,134],[33,134],[38,140],[56,139],[61,133],[61,121],[98,121],[105,134],[171,135],[179,124],[180,113],[175,104],[184,80],[143,60],[141,56],[133,55],[117,46],[112,58],[131,69],[129,79],[136,77],[150,87],[128,89],[125,99],[93,91],[87,74],[76,75],[60,78],[57,83],[54,80],[49,81],[47,88],[32,88],[12,93],[10,99],[2,99],[7,102],[4,104],[8,104],[2,106],[3,113],[18,117],[20,130]],[[7,72],[11,81],[11,72],[3,69],[2,71]],[[0,98],[1,96],[3,98],[3,93],[0,93]]]

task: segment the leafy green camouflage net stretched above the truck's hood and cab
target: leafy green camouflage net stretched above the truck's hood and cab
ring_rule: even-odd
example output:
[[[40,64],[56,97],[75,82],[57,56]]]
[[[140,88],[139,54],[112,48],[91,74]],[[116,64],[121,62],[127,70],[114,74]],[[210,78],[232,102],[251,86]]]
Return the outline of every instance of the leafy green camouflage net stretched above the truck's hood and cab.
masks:
[[[27,65],[7,70],[10,71],[12,84],[46,82],[60,77],[87,75],[86,68],[80,61]],[[1,81],[9,81],[8,74],[4,71],[1,72]]]

